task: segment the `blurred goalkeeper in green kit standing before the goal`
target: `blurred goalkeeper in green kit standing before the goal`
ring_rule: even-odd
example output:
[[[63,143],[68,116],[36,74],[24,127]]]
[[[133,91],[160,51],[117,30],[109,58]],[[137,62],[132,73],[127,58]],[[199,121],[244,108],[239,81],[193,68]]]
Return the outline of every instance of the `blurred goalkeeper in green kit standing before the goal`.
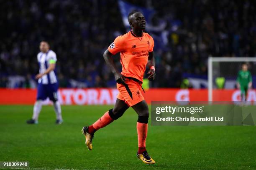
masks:
[[[241,90],[241,101],[246,101],[247,90],[252,86],[251,72],[248,71],[248,66],[243,63],[242,70],[238,72],[237,87]]]

